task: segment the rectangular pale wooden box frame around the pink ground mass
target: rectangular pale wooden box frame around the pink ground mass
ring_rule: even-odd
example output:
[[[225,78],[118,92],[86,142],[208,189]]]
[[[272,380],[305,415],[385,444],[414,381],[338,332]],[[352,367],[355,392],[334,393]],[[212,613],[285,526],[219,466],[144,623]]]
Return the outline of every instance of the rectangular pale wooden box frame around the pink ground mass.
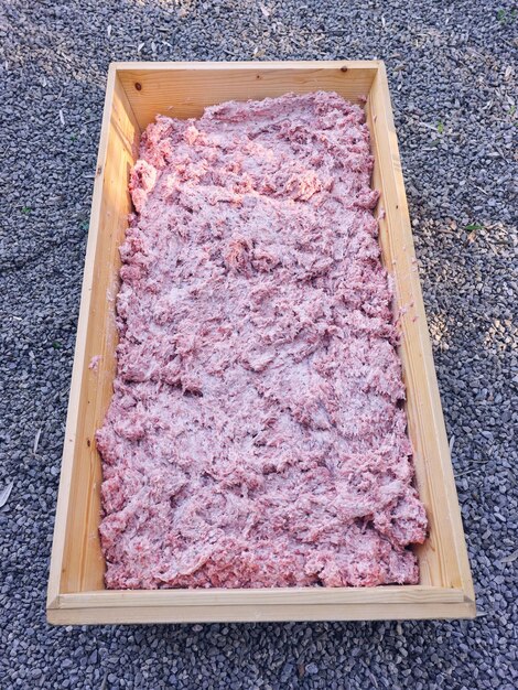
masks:
[[[335,90],[365,103],[376,159],[373,184],[385,208],[384,262],[402,316],[400,355],[409,434],[430,538],[417,548],[419,585],[375,589],[114,591],[104,585],[99,545],[101,463],[95,431],[116,368],[118,247],[131,211],[128,173],[139,137],[159,112],[198,117],[205,106]],[[474,591],[414,252],[385,65],[381,62],[116,63],[106,90],[77,327],[48,582],[53,624],[205,621],[456,618],[475,615]],[[101,355],[99,368],[88,368]]]

